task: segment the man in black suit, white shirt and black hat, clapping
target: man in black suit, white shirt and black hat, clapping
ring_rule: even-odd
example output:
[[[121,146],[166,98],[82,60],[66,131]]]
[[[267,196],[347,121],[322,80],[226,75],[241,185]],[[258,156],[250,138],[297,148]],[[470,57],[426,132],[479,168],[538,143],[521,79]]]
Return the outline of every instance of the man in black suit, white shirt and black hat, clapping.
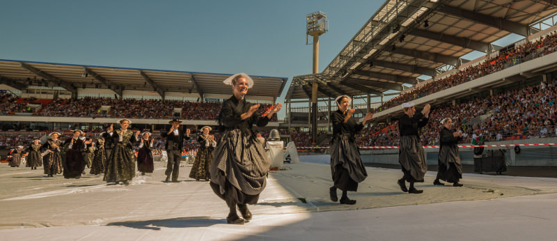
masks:
[[[178,175],[180,175],[180,158],[182,158],[182,149],[184,148],[184,139],[189,140],[189,129],[186,132],[180,128],[180,121],[178,118],[174,118],[168,121],[171,125],[166,132],[161,134],[161,137],[166,138],[166,144],[164,148],[166,149],[166,155],[168,155],[168,163],[166,163],[166,180],[164,182],[169,182],[172,177],[172,182],[178,182]]]

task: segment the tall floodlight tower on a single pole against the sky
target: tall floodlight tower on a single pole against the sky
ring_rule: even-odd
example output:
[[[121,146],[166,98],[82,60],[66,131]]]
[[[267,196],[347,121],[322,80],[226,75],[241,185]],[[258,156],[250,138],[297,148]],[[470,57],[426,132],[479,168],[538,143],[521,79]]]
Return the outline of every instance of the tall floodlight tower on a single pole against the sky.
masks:
[[[321,11],[306,15],[306,45],[308,36],[313,37],[313,74],[319,72],[319,36],[329,31],[327,15]],[[311,86],[311,141],[317,142],[317,81]]]

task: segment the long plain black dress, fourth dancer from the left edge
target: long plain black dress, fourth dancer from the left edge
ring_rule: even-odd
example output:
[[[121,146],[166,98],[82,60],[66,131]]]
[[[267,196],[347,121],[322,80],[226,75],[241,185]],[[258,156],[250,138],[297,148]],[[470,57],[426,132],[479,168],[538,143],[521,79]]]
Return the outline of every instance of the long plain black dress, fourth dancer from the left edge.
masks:
[[[74,139],[72,143],[72,137],[64,142],[64,146],[68,149],[65,151],[65,158],[63,162],[64,178],[81,178],[81,173],[85,170],[83,155],[81,152],[85,148],[85,144],[81,139]]]

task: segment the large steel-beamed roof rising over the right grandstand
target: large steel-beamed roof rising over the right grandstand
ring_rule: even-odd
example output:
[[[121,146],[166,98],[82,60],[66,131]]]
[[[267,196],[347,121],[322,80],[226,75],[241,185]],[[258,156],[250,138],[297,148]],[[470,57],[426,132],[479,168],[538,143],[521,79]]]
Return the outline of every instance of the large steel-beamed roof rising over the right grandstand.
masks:
[[[387,0],[340,53],[316,75],[295,76],[286,99],[318,96],[381,95],[457,66],[465,54],[491,53],[492,42],[516,33],[540,31],[533,24],[557,12],[551,0]]]

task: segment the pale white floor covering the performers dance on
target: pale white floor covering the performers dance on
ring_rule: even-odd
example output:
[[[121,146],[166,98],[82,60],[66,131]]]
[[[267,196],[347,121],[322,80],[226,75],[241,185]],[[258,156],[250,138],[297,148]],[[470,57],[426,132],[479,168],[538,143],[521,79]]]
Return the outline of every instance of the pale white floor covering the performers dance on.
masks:
[[[464,174],[438,187],[436,173],[402,193],[400,170],[368,168],[356,205],[329,200],[327,164],[270,173],[253,220],[226,224],[228,208],[208,182],[164,183],[164,166],[132,185],[102,176],[46,178],[0,164],[2,240],[554,240],[557,179]],[[88,171],[88,169],[86,169]],[[340,192],[338,193],[340,196]]]

